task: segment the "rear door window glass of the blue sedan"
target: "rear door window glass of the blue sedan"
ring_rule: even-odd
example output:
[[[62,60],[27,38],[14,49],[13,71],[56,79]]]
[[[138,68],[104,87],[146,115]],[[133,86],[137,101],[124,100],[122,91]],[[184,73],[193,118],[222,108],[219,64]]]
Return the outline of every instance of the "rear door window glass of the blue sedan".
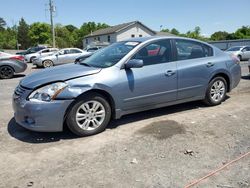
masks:
[[[196,59],[213,55],[211,47],[199,42],[176,39],[175,44],[177,60]]]

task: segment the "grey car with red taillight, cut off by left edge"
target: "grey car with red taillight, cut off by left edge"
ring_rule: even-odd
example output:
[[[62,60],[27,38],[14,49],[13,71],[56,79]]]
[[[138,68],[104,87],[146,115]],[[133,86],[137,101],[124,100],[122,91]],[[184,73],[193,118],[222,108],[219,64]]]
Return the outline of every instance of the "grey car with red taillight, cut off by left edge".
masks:
[[[24,72],[26,68],[23,56],[0,52],[0,79],[12,78],[15,73]]]

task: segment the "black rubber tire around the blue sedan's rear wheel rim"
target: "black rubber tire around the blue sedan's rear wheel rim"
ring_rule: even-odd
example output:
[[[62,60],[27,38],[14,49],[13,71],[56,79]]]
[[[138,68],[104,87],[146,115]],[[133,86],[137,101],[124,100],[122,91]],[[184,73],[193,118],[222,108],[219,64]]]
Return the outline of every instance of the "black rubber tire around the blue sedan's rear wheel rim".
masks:
[[[219,99],[216,101],[216,100],[214,100],[212,98],[212,89],[214,88],[214,84],[218,83],[220,81],[224,84],[224,86],[223,86],[224,87],[224,93],[223,93],[223,95],[221,94],[220,97],[219,97]],[[206,96],[205,96],[204,102],[208,106],[219,105],[219,104],[221,104],[221,102],[223,102],[225,100],[226,93],[227,93],[227,82],[226,82],[226,80],[223,77],[221,77],[221,76],[215,77],[208,84],[208,88],[207,88],[207,91],[206,91]]]

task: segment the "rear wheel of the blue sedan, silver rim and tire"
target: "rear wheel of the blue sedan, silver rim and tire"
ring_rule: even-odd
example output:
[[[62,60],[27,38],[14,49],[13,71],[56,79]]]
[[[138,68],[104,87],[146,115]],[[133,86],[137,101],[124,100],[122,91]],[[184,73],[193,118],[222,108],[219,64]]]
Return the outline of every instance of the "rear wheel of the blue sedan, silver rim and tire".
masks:
[[[209,106],[221,104],[225,100],[227,82],[223,77],[215,77],[209,82],[204,102]]]

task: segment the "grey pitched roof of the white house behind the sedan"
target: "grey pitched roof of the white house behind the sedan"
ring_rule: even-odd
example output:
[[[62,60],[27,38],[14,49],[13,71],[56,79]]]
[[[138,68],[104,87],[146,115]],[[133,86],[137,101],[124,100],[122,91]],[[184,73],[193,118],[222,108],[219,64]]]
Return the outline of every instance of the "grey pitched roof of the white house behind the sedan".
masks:
[[[145,26],[144,24],[142,24],[139,21],[133,21],[133,22],[128,22],[128,23],[123,23],[123,24],[119,24],[119,25],[115,25],[115,26],[111,26],[105,29],[99,29],[93,33],[90,33],[88,35],[86,35],[84,38],[88,38],[88,37],[94,37],[94,36],[100,36],[100,35],[107,35],[107,34],[112,34],[112,33],[117,33],[123,29],[126,29],[127,27],[134,25],[134,24],[141,24],[143,27],[147,28],[148,30],[150,30],[152,33],[156,33],[155,31],[153,31],[152,29],[148,28],[147,26]]]

